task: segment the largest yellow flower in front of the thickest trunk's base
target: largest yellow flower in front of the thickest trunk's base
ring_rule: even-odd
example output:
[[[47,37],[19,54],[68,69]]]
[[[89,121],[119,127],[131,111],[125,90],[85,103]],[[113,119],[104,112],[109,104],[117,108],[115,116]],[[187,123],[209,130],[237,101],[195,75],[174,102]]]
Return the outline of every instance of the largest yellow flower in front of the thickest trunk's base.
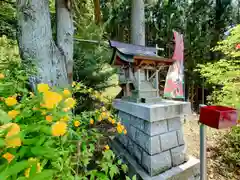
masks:
[[[43,100],[43,107],[53,109],[62,101],[62,96],[56,92],[47,91],[43,95]]]

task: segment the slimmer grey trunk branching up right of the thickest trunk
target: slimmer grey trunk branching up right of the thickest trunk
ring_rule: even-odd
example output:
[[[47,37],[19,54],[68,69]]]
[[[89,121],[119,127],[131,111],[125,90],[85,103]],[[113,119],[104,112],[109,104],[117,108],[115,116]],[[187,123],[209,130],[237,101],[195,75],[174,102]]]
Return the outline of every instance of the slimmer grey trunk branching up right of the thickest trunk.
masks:
[[[67,2],[67,3],[66,3]],[[70,0],[56,0],[57,46],[65,56],[68,82],[73,78],[73,17]]]

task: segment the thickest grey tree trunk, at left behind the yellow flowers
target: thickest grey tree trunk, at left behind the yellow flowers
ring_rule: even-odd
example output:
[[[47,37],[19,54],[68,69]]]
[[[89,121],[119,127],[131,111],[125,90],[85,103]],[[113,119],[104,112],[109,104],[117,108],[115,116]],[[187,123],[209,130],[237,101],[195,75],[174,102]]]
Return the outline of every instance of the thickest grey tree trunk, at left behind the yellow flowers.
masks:
[[[70,58],[66,57],[72,56],[69,50],[71,48],[67,49],[58,43],[61,48],[67,49],[67,53],[62,52],[53,41],[49,1],[17,0],[16,7],[17,37],[23,63],[34,62],[38,71],[38,74],[31,78],[33,89],[40,82],[50,86],[68,86],[66,61]]]

